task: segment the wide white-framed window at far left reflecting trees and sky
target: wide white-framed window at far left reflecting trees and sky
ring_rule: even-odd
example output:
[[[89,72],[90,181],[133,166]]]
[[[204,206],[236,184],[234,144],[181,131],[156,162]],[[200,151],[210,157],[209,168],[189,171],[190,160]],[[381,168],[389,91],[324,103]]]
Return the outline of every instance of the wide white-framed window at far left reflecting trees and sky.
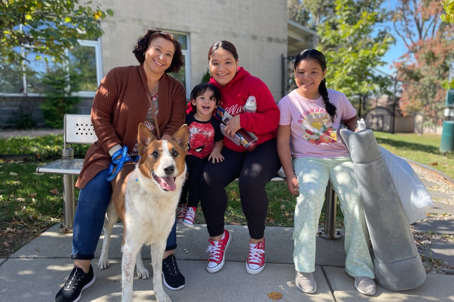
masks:
[[[64,63],[64,67],[68,72],[78,74],[80,81],[78,95],[94,96],[102,79],[100,41],[78,40],[78,42],[78,46],[66,50],[69,60]],[[17,47],[15,51],[20,52],[22,57],[26,57],[29,61],[24,60],[7,66],[0,65],[0,94],[41,95],[45,89],[41,79],[46,72],[56,67],[56,63],[49,56],[39,55],[40,58],[37,59],[37,54],[34,52],[25,55],[24,47]]]

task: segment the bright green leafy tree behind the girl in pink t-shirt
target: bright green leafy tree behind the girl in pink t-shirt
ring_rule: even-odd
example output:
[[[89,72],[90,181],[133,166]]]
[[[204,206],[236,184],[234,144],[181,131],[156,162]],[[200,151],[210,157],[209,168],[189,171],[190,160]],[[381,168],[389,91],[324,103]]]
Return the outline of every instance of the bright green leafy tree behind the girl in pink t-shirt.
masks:
[[[388,77],[374,71],[374,67],[385,65],[383,56],[395,41],[385,29],[376,29],[386,18],[382,2],[335,0],[334,14],[317,29],[319,50],[328,66],[328,88],[363,102],[390,85]]]

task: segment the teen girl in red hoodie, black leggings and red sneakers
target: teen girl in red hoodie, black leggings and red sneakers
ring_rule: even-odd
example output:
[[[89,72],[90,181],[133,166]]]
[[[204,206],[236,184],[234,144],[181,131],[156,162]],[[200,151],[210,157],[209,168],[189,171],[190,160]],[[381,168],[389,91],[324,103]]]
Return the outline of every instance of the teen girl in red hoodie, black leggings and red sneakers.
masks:
[[[233,137],[242,128],[253,132],[257,147],[246,151],[224,137],[221,151],[224,161],[208,162],[200,180],[201,204],[210,235],[210,253],[207,271],[217,272],[222,268],[225,251],[232,237],[224,229],[224,213],[227,209],[225,187],[239,178],[241,205],[249,228],[248,273],[260,273],[265,265],[265,219],[268,196],[265,185],[281,167],[276,151],[276,129],[279,124],[279,109],[271,92],[259,78],[251,76],[243,67],[238,67],[235,46],[228,41],[216,42],[208,52],[210,83],[221,92],[220,106],[233,115],[225,128]],[[244,113],[249,96],[257,100],[256,112]]]

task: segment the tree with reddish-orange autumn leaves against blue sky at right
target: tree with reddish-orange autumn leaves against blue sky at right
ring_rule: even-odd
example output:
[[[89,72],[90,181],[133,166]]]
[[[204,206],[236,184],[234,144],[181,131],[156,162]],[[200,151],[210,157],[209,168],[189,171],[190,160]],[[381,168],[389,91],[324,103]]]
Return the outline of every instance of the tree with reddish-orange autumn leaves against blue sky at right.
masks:
[[[403,81],[400,108],[421,113],[429,124],[443,121],[444,97],[454,60],[454,26],[439,22],[441,0],[399,0],[393,21],[407,53],[394,63]]]

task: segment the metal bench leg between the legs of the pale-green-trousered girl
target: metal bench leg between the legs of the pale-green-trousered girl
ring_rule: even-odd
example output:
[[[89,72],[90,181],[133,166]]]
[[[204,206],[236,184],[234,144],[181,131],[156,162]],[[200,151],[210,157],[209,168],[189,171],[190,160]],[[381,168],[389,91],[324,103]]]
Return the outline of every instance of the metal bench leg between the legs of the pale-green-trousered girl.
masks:
[[[336,230],[336,201],[337,195],[328,182],[325,192],[325,227],[319,232],[323,239],[337,240],[341,238],[341,231]]]

